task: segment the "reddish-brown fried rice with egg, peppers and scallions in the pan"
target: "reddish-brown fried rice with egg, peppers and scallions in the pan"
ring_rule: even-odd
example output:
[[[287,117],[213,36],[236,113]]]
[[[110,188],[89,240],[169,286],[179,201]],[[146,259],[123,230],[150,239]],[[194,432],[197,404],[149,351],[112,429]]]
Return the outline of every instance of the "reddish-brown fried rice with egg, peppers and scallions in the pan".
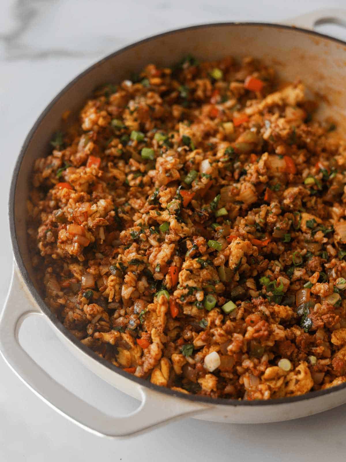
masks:
[[[245,400],[346,382],[346,146],[251,58],[95,91],[28,201],[50,309],[129,374]]]

